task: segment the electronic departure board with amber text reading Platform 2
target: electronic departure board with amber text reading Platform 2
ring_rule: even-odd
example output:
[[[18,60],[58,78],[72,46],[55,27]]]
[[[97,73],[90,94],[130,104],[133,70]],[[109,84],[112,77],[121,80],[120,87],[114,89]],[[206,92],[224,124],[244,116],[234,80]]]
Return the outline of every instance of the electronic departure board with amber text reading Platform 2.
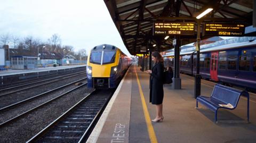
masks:
[[[241,23],[205,23],[204,36],[244,36]]]

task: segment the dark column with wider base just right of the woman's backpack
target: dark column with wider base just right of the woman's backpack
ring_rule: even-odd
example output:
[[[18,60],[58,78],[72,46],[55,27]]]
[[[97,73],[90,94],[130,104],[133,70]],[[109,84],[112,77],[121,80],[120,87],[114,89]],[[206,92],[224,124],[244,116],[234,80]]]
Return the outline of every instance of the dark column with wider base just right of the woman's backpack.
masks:
[[[181,89],[181,79],[180,79],[180,37],[175,36],[176,45],[174,49],[174,78],[172,83],[172,89]]]

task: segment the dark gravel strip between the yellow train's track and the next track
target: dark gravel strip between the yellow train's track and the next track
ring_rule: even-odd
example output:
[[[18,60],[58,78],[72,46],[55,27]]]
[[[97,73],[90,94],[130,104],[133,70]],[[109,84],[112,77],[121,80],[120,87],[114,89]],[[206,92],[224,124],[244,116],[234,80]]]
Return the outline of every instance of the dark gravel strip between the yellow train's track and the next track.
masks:
[[[0,128],[0,142],[26,142],[93,90],[83,86],[5,125]]]

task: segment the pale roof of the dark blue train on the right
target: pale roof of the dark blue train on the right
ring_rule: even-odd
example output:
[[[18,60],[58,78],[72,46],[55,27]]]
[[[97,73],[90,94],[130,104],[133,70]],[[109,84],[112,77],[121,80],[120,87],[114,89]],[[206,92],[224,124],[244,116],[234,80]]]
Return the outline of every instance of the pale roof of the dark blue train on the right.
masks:
[[[256,37],[237,37],[226,40],[220,40],[215,43],[206,44],[200,46],[200,52],[209,52],[209,51],[221,51],[226,49],[240,48],[240,47],[249,47],[256,46]],[[187,55],[195,53],[195,46],[187,48],[185,50],[181,49],[180,55]],[[163,57],[173,56],[174,52],[167,53]]]

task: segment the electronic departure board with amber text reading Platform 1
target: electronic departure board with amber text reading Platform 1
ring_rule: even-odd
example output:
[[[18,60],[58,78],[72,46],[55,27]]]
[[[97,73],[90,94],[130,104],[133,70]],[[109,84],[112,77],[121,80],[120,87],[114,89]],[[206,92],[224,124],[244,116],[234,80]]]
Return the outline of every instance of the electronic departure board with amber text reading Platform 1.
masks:
[[[153,35],[194,35],[195,22],[154,22]]]

